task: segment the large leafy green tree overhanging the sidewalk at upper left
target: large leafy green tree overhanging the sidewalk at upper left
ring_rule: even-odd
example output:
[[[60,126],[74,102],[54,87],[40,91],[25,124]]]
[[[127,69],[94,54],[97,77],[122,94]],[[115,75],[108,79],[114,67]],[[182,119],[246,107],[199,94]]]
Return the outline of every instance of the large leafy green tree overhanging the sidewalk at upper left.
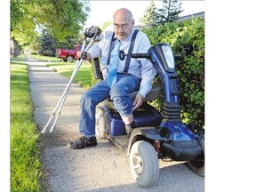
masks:
[[[88,1],[82,0],[11,0],[12,41],[31,44],[40,35],[38,30],[45,28],[50,36],[63,42],[67,36],[79,34],[88,12]]]

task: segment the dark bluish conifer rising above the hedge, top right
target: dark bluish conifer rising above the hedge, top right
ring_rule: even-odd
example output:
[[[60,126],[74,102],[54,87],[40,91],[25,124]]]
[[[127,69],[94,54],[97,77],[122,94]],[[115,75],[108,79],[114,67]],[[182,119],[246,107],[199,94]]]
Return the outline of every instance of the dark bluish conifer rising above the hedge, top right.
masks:
[[[156,11],[156,22],[173,22],[178,20],[181,10],[181,3],[178,0],[163,0],[163,8],[157,9]]]

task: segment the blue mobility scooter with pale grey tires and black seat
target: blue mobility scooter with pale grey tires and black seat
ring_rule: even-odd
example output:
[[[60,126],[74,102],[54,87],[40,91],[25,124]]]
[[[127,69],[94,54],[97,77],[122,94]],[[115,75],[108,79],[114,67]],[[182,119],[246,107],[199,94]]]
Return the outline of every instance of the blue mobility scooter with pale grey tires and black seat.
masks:
[[[145,58],[156,68],[163,84],[163,108],[160,114],[148,104],[156,100],[161,89],[153,87],[143,100],[142,106],[133,112],[138,125],[128,138],[124,122],[111,100],[101,102],[96,108],[96,134],[122,148],[130,160],[132,177],[140,187],[148,188],[159,177],[158,159],[186,161],[188,168],[204,176],[204,129],[196,124],[183,124],[180,120],[178,97],[178,76],[175,60],[180,59],[172,52],[169,44],[159,43],[152,46],[147,53],[124,53],[119,58]],[[95,66],[99,61],[94,60]],[[137,92],[132,92],[132,99]]]

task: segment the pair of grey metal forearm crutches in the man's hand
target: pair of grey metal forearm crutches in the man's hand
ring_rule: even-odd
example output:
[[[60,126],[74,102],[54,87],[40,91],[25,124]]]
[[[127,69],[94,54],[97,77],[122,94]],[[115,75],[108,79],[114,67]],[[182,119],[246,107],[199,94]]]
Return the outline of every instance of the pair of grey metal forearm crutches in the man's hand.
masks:
[[[47,124],[44,126],[44,129],[42,130],[43,134],[46,132],[46,129],[48,128],[49,124],[51,123],[53,116],[56,115],[55,116],[55,120],[54,120],[54,122],[52,124],[52,128],[50,129],[50,132],[53,132],[55,124],[57,123],[57,120],[58,120],[58,118],[60,116],[61,108],[63,107],[64,102],[65,102],[65,100],[66,100],[66,98],[68,96],[68,91],[69,91],[70,85],[72,84],[72,82],[73,82],[73,80],[74,80],[74,78],[76,76],[76,72],[80,68],[80,66],[81,66],[81,64],[83,62],[84,56],[86,56],[86,52],[88,52],[88,50],[92,46],[92,43],[95,40],[95,38],[97,36],[100,36],[100,33],[101,33],[100,28],[97,28],[97,27],[94,27],[94,26],[92,26],[91,28],[86,28],[85,29],[85,32],[84,32],[84,42],[83,42],[83,45],[82,45],[82,48],[81,48],[81,50],[84,50],[84,52],[82,53],[81,58],[79,58],[79,60],[76,61],[76,66],[75,66],[75,68],[73,70],[73,73],[72,73],[72,75],[71,75],[71,77],[70,77],[70,79],[68,81],[68,84],[67,84],[64,92],[62,93],[57,106],[54,108],[52,116],[50,116]],[[91,41],[90,41],[90,43],[85,48],[86,38],[87,37],[91,38]]]

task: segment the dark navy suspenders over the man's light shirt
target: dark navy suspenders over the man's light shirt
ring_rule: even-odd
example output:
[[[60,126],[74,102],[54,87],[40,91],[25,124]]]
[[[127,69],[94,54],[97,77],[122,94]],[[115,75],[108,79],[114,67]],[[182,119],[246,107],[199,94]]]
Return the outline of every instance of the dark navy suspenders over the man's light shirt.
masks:
[[[138,29],[135,29],[134,33],[132,34],[132,40],[131,40],[131,44],[130,44],[130,47],[129,47],[129,50],[128,50],[128,54],[131,54],[132,53],[132,50],[133,50],[133,46],[135,44],[135,38],[138,34],[139,30]],[[111,38],[111,43],[110,43],[110,46],[109,46],[109,52],[108,52],[108,63],[107,65],[109,64],[109,61],[110,61],[110,55],[111,55],[111,52],[113,51],[114,49],[114,44],[115,44],[115,41],[116,41],[116,38],[114,38],[115,36],[115,33],[113,32],[113,36]],[[127,55],[126,56],[126,61],[125,61],[125,66],[124,66],[124,74],[127,74],[128,72],[128,69],[130,67],[130,62],[131,62],[131,57],[130,55]]]

